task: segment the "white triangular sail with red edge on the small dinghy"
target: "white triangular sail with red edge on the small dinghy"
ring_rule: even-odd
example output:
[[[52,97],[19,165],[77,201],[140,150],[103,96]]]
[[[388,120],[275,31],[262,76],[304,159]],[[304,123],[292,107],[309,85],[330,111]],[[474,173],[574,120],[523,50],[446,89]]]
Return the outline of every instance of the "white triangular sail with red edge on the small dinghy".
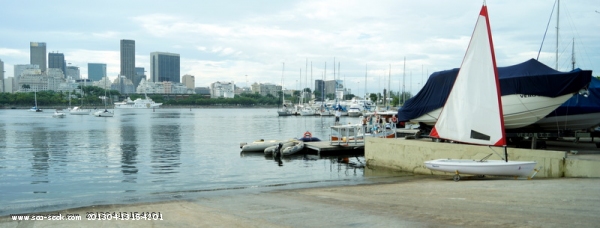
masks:
[[[487,7],[431,136],[480,145],[506,145],[502,101]]]

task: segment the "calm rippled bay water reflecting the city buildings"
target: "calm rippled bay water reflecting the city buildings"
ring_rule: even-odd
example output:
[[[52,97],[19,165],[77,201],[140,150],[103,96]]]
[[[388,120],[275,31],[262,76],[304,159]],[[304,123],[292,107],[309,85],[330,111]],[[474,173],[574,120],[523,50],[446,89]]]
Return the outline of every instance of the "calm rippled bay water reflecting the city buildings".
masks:
[[[113,118],[64,119],[52,113],[0,110],[0,215],[377,179],[336,157],[299,155],[279,166],[240,153],[241,142],[260,138],[307,130],[327,138],[333,117],[277,117],[275,109],[116,110]]]

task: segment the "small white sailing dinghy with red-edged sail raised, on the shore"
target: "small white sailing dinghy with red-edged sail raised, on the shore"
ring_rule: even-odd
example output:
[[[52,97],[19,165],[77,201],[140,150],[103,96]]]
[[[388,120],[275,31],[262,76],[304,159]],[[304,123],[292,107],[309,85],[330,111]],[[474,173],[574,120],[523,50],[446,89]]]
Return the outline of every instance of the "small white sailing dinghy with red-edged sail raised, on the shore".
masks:
[[[431,136],[469,144],[503,146],[505,160],[437,159],[431,170],[459,174],[526,176],[535,161],[508,161],[498,70],[487,6],[483,5],[454,86]],[[489,157],[489,155],[488,155]]]

